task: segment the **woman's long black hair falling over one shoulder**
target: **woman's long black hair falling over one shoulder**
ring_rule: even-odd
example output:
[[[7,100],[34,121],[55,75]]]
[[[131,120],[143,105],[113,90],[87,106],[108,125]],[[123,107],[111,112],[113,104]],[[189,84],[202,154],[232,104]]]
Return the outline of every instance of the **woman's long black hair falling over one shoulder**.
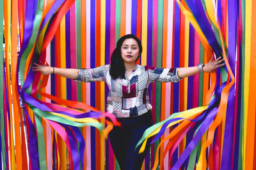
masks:
[[[113,79],[116,78],[125,78],[125,67],[124,67],[124,60],[122,59],[121,55],[121,46],[125,39],[133,38],[137,41],[139,46],[139,53],[141,55],[142,52],[142,45],[140,39],[138,39],[133,34],[127,34],[125,36],[122,36],[120,39],[118,39],[116,43],[116,48],[114,52],[111,55],[111,64],[110,64],[110,75]],[[139,59],[140,56],[136,60]]]

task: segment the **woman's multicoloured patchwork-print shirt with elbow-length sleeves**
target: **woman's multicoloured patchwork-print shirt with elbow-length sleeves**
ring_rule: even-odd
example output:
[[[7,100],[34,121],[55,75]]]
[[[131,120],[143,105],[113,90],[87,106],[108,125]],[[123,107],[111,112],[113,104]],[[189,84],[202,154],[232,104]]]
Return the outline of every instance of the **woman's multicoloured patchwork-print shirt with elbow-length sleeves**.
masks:
[[[116,117],[136,117],[152,110],[149,102],[148,85],[154,81],[177,82],[177,68],[164,69],[151,66],[136,65],[136,69],[128,77],[111,78],[110,65],[94,69],[79,69],[77,81],[106,81],[109,94],[107,111]]]

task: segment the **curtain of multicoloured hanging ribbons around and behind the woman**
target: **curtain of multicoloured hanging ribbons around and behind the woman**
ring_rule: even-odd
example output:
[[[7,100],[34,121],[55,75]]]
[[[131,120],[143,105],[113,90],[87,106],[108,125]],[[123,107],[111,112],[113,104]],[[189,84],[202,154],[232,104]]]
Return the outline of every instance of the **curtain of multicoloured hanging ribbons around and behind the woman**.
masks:
[[[141,39],[141,65],[225,59],[216,73],[152,83],[155,125],[141,143],[154,138],[142,169],[256,169],[255,3],[0,0],[2,169],[119,169],[104,139],[118,125],[104,113],[106,85],[47,78],[31,66],[109,64],[130,33]]]

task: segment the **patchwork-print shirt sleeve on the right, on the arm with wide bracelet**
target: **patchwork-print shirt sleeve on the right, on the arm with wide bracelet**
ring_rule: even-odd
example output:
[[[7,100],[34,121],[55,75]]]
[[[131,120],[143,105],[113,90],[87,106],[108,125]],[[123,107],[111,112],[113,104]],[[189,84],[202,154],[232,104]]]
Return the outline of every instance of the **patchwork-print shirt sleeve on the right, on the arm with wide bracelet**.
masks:
[[[150,67],[148,68],[148,75],[151,82],[177,82],[181,79],[178,77],[177,68],[159,68],[159,67]]]

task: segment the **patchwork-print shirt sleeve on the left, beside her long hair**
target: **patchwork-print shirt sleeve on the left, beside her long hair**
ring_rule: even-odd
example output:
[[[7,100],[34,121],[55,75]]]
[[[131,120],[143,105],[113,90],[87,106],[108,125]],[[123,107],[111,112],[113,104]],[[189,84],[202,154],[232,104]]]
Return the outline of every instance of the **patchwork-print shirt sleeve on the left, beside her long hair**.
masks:
[[[106,74],[108,71],[108,65],[95,67],[93,69],[79,69],[79,74],[75,81],[83,81],[86,83],[93,81],[106,81]]]

